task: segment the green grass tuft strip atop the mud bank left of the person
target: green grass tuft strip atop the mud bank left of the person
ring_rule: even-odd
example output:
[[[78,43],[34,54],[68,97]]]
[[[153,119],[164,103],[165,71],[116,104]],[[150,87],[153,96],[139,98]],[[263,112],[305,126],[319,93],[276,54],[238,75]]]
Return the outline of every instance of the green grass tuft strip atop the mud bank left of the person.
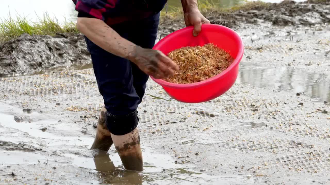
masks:
[[[55,35],[58,33],[78,33],[76,25],[73,22],[65,22],[60,25],[57,20],[52,19],[48,14],[39,17],[37,22],[32,22],[26,17],[11,16],[7,19],[1,19],[0,22],[0,44],[15,39],[20,35],[27,33],[29,35]]]

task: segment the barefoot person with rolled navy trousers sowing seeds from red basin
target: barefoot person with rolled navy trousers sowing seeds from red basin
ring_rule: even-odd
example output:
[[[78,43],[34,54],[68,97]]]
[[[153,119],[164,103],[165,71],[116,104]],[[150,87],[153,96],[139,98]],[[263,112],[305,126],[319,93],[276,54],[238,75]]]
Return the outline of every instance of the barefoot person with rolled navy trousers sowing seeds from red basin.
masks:
[[[179,66],[152,50],[160,11],[166,0],[73,0],[77,28],[85,36],[99,92],[103,96],[95,141],[91,149],[108,151],[114,143],[127,170],[143,171],[139,118],[136,111],[149,75],[166,78]],[[181,0],[186,26],[197,36],[210,23],[197,0]]]

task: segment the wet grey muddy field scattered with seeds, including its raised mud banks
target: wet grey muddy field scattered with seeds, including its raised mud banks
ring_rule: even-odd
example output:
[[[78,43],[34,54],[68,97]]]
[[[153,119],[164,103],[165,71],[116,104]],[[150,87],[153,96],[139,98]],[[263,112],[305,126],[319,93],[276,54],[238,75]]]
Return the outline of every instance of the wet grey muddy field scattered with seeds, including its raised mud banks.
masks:
[[[329,184],[329,1],[272,6],[218,15],[245,44],[224,95],[185,104],[148,82],[141,173],[114,148],[89,150],[102,97],[81,36],[0,47],[0,184]],[[180,27],[163,22],[160,34]]]

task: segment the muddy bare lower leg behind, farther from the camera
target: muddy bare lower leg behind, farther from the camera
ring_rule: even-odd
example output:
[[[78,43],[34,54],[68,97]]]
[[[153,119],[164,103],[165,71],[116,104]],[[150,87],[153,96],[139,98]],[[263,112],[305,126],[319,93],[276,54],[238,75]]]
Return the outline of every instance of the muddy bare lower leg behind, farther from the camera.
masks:
[[[107,110],[103,107],[97,124],[95,140],[90,149],[100,149],[100,150],[108,151],[110,149],[110,146],[113,144],[111,133],[109,132],[107,123],[105,121],[106,111]]]

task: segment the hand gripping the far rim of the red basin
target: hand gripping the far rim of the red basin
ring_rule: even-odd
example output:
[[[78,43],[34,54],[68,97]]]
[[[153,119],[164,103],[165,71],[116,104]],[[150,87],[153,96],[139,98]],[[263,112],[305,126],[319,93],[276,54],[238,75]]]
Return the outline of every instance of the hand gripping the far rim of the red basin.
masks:
[[[184,13],[184,22],[186,26],[194,26],[193,36],[195,37],[202,31],[202,24],[210,24],[210,21],[202,15],[197,7]]]

